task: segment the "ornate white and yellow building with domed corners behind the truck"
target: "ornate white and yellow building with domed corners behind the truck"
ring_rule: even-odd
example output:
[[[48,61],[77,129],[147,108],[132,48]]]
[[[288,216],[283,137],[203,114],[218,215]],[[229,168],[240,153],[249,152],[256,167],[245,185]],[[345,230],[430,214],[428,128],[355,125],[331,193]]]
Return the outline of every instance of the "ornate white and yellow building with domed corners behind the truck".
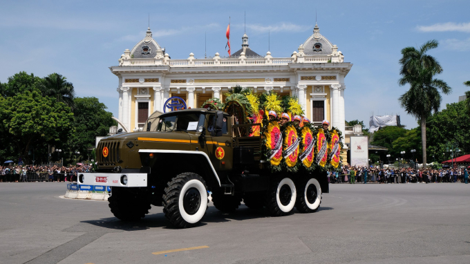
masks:
[[[353,64],[315,25],[313,34],[291,57],[261,56],[250,49],[248,36],[242,37],[241,50],[228,58],[216,53],[208,59],[171,59],[152,37],[147,35],[132,50],[126,49],[119,66],[111,66],[118,76],[119,119],[129,129],[139,131],[153,111],[162,111],[169,97],[182,97],[191,108],[219,97],[237,84],[255,93],[275,91],[294,95],[312,122],[330,120],[344,134],[344,78]],[[346,132],[346,133],[345,133]]]

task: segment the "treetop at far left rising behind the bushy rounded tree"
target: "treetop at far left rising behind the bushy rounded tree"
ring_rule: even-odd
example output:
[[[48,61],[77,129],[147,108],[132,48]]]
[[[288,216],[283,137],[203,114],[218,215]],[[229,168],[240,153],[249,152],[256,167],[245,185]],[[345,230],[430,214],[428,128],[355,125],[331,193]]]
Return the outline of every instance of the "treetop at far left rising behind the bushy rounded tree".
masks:
[[[8,77],[8,82],[0,83],[0,95],[2,97],[12,97],[17,93],[24,93],[26,91],[33,91],[39,83],[41,78],[34,74],[21,71],[15,75]]]

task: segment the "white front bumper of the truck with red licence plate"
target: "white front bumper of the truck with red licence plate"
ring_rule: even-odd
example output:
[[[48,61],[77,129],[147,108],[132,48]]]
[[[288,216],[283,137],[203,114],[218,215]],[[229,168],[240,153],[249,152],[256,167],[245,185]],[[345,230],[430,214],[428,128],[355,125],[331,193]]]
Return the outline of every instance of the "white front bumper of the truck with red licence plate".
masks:
[[[77,182],[79,185],[147,187],[147,173],[78,173]]]

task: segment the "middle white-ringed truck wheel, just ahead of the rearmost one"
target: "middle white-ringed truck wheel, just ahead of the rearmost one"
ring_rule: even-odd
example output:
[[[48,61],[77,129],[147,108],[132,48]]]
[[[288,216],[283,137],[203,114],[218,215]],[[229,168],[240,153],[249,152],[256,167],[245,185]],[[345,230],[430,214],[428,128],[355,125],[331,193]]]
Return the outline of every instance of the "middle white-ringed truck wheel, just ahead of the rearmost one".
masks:
[[[266,195],[266,208],[272,216],[288,215],[295,205],[297,192],[290,178],[274,180]]]

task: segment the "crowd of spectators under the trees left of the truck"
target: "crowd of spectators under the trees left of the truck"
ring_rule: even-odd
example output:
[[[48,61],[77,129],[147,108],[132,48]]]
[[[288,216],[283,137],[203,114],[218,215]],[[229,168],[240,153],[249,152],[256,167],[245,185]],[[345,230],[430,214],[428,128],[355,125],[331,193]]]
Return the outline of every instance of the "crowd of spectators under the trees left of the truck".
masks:
[[[89,172],[92,167],[84,166],[0,166],[0,182],[26,182],[35,180],[46,180],[49,182],[75,181],[77,173]]]

